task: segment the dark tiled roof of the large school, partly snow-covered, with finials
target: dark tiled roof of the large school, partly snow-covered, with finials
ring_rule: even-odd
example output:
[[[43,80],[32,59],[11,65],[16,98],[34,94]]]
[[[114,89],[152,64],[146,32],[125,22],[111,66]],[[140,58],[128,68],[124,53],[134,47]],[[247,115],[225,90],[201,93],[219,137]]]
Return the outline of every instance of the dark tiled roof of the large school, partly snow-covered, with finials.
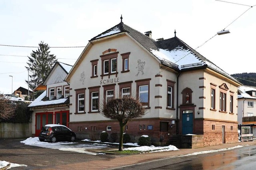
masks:
[[[178,71],[193,70],[197,68],[210,68],[211,70],[214,70],[215,72],[218,72],[219,74],[222,74],[223,76],[226,76],[227,78],[240,84],[238,80],[224,72],[221,68],[206,59],[204,56],[200,55],[197,51],[176,37],[176,35],[170,39],[155,41],[154,39],[146,36],[144,33],[141,33],[136,29],[124,24],[122,22],[122,16],[120,23],[93,37],[89,41],[94,42],[102,38],[113,37],[113,35],[118,36],[118,34],[124,33],[135,39],[135,41],[148,50],[148,52],[155,56],[156,59],[158,59],[158,62],[163,65]],[[89,45],[90,43],[87,46],[88,48]],[[82,54],[80,57],[81,56]]]

